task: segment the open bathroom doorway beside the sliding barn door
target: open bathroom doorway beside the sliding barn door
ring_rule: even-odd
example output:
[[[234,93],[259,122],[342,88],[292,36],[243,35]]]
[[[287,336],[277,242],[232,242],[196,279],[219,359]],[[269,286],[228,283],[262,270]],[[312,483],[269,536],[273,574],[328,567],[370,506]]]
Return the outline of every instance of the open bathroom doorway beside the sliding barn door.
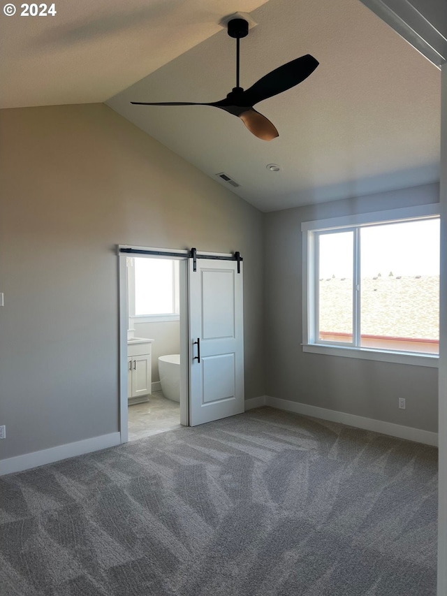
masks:
[[[157,254],[120,260],[126,266],[127,430],[133,441],[181,426],[186,258]]]

